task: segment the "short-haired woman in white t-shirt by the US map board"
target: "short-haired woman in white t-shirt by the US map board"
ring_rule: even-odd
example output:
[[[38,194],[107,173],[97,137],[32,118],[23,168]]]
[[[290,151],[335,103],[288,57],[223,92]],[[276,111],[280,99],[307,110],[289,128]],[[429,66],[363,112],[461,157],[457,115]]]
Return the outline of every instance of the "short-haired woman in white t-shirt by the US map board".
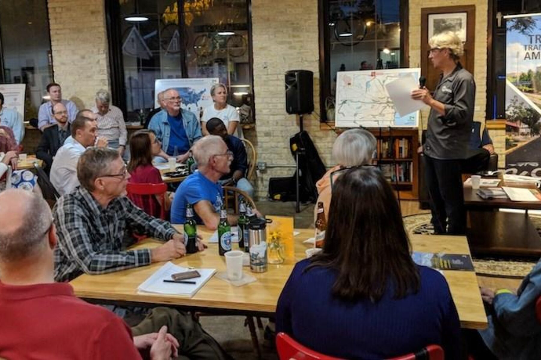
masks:
[[[201,130],[203,135],[208,135],[207,121],[212,118],[219,118],[226,125],[227,133],[233,135],[236,132],[236,127],[239,125],[239,112],[236,108],[227,104],[227,88],[221,83],[214,84],[210,88],[210,96],[214,100],[214,105],[211,105],[203,110],[201,117]]]

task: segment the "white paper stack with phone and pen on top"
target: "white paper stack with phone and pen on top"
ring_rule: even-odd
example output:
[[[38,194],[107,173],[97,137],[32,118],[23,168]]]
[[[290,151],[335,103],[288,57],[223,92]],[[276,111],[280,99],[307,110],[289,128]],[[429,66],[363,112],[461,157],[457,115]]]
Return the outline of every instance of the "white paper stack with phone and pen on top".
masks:
[[[167,262],[164,266],[158,269],[147,280],[145,280],[137,290],[140,293],[155,293],[167,295],[179,295],[192,297],[216,272],[216,269],[195,269],[199,271],[201,277],[194,277],[186,281],[195,281],[195,284],[186,284],[179,282],[164,282],[163,280],[172,280],[171,275],[183,273],[194,269],[183,268],[172,262]]]

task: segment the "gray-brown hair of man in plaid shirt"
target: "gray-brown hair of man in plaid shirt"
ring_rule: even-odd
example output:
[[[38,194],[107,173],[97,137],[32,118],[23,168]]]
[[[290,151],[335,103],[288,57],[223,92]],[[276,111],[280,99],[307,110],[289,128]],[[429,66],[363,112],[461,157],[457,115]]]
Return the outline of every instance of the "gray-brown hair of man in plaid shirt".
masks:
[[[88,191],[94,191],[94,181],[107,175],[111,162],[120,158],[118,151],[107,147],[89,147],[77,161],[77,179]]]

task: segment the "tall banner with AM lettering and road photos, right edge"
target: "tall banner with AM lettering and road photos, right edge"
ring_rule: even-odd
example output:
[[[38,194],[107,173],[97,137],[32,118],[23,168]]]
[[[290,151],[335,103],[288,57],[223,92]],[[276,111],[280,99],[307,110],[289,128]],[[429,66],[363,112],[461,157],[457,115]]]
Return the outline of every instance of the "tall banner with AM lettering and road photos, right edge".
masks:
[[[541,16],[506,20],[506,173],[541,178]]]

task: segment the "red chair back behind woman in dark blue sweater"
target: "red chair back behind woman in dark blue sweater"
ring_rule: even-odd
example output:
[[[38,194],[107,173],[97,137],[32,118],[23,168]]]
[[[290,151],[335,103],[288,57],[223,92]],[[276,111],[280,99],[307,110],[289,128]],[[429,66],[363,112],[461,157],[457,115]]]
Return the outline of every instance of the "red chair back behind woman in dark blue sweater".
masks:
[[[332,357],[320,354],[317,351],[310,350],[304,345],[296,342],[291,336],[284,332],[276,335],[276,349],[280,360],[340,360],[338,357]],[[428,345],[417,352],[412,352],[404,356],[393,357],[390,360],[444,360],[444,352],[438,345]]]

